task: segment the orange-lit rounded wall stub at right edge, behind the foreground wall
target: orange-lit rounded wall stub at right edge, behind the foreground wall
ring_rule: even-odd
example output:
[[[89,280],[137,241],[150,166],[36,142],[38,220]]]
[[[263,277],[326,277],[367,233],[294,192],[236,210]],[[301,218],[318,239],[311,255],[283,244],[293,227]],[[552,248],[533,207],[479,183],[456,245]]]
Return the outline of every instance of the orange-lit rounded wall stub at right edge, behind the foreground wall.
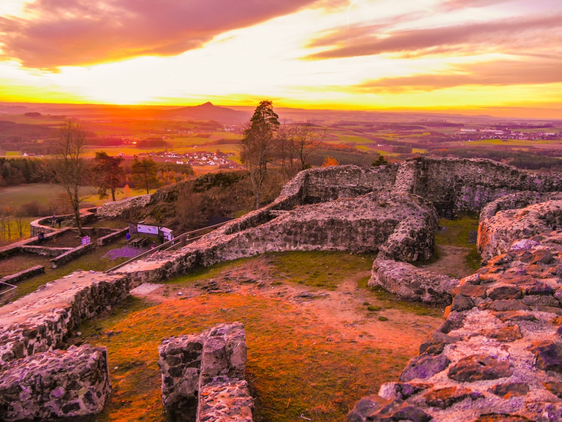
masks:
[[[533,236],[559,227],[562,227],[562,200],[546,201],[523,209],[498,211],[494,217],[479,224],[478,252],[482,259],[490,259],[510,250],[516,241],[537,241]]]

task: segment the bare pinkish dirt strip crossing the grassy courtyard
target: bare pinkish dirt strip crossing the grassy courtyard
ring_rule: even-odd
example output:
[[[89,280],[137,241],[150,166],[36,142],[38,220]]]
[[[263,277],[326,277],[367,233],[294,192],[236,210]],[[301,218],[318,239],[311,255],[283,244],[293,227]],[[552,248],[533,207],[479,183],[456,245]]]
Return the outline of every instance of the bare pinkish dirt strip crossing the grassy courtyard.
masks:
[[[453,258],[457,259],[457,256],[452,254]],[[287,281],[286,276],[275,274],[274,267],[265,258],[257,258],[224,270],[213,279],[191,283],[146,284],[131,293],[155,303],[210,293],[281,298],[293,304],[303,317],[329,326],[332,334],[327,341],[359,343],[376,340],[379,348],[402,349],[409,353],[416,351],[422,340],[442,324],[439,311],[432,309],[428,312],[430,315],[419,315],[404,306],[393,306],[392,301],[379,300],[375,293],[357,285],[358,280],[369,274],[369,271],[352,273],[339,283],[337,289],[325,290]],[[373,304],[379,310],[369,312],[366,303]],[[379,317],[387,320],[379,320]]]

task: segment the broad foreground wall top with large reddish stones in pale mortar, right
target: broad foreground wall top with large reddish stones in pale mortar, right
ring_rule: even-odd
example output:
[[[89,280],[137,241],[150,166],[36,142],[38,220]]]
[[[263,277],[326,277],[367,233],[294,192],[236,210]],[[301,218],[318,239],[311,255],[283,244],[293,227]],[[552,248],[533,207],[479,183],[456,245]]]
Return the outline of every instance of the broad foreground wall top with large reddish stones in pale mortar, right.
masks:
[[[350,422],[562,420],[562,230],[533,239],[462,279],[399,382],[357,402]]]

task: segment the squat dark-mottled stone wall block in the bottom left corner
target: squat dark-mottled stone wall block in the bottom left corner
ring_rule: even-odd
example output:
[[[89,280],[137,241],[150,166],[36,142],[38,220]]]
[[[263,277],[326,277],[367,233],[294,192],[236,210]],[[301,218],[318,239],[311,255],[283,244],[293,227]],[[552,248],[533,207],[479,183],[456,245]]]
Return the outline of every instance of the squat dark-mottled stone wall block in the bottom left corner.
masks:
[[[103,409],[111,393],[105,347],[71,346],[0,369],[0,420],[80,417]]]

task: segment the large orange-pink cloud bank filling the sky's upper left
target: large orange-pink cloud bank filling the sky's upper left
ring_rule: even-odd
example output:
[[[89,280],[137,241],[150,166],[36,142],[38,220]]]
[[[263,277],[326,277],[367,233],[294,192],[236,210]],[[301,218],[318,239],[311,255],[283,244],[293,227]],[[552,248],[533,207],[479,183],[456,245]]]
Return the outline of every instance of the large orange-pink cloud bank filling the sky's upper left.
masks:
[[[316,0],[36,0],[0,17],[3,56],[28,68],[176,55]]]

